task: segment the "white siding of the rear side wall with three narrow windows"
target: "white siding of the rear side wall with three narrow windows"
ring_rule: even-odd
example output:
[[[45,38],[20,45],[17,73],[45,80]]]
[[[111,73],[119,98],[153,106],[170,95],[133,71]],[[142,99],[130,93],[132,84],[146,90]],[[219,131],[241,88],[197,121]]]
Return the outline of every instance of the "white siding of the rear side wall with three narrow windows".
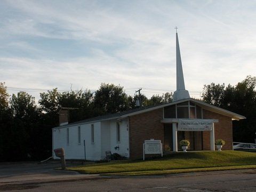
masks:
[[[101,123],[94,125],[94,144],[91,143],[91,124],[81,126],[81,145],[78,145],[78,126],[70,126],[53,130],[53,149],[63,147],[66,159],[84,159],[84,140],[86,160],[101,159]],[[67,145],[67,128],[69,128],[69,145]],[[54,158],[57,158],[54,155]]]

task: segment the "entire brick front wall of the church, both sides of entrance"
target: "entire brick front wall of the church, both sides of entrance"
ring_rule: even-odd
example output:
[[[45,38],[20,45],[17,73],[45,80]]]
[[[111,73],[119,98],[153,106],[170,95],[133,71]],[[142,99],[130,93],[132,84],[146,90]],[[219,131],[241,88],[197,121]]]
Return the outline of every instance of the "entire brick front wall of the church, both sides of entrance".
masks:
[[[231,150],[233,130],[231,117],[203,110],[204,119],[219,119],[214,123],[215,140],[223,139],[223,150]],[[142,158],[143,142],[149,139],[161,140],[164,144],[163,108],[129,117],[130,158]],[[210,150],[210,131],[203,131],[203,150]]]

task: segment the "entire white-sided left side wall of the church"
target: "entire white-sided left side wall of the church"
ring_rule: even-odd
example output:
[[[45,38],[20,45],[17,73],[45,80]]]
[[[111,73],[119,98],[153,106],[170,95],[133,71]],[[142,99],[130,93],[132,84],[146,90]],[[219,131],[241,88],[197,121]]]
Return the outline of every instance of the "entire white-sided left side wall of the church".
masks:
[[[79,125],[81,127],[81,145],[78,144],[78,126],[53,129],[53,149],[63,147],[66,159],[84,159],[84,140],[86,160],[98,161],[106,157],[105,152],[130,157],[128,118],[120,122],[120,142],[117,142],[117,119]],[[94,143],[91,142],[91,125],[94,127]],[[67,145],[67,128],[69,144]],[[115,147],[119,149],[115,150]],[[54,153],[53,153],[54,155]],[[54,158],[58,158],[54,155]]]

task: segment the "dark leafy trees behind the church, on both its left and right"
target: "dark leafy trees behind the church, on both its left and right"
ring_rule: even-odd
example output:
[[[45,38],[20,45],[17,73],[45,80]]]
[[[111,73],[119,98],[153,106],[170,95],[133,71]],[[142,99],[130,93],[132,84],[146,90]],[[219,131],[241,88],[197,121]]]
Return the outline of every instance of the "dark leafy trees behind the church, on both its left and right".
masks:
[[[256,77],[247,76],[237,85],[204,85],[201,100],[211,105],[244,115],[246,119],[233,121],[233,139],[254,143],[256,132]],[[62,107],[70,111],[70,123],[99,115],[134,109],[139,95],[127,95],[120,85],[101,84],[90,90],[59,92],[53,89],[35,98],[26,92],[9,95],[0,83],[0,161],[42,160],[52,154],[52,128],[59,125]],[[172,93],[141,94],[142,106],[172,101]]]

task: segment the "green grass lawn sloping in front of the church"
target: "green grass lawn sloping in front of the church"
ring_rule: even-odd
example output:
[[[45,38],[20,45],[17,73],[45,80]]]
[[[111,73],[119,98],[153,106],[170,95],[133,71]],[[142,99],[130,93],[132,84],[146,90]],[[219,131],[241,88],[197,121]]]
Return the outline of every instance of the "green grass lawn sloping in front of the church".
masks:
[[[85,174],[146,175],[246,168],[256,168],[256,153],[241,151],[174,153],[154,160],[115,161],[68,167],[67,170]]]

